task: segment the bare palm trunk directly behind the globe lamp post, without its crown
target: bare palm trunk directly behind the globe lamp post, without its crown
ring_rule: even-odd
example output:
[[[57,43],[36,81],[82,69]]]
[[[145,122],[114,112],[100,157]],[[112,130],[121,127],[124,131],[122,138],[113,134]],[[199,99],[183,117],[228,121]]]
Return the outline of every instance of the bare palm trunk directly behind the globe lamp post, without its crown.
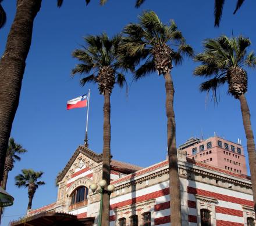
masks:
[[[104,126],[103,126],[103,159],[102,159],[102,179],[106,181],[106,186],[110,184],[110,140],[111,140],[111,125],[110,125],[110,93],[104,92]],[[103,194],[103,212],[102,226],[109,226],[109,194]]]

